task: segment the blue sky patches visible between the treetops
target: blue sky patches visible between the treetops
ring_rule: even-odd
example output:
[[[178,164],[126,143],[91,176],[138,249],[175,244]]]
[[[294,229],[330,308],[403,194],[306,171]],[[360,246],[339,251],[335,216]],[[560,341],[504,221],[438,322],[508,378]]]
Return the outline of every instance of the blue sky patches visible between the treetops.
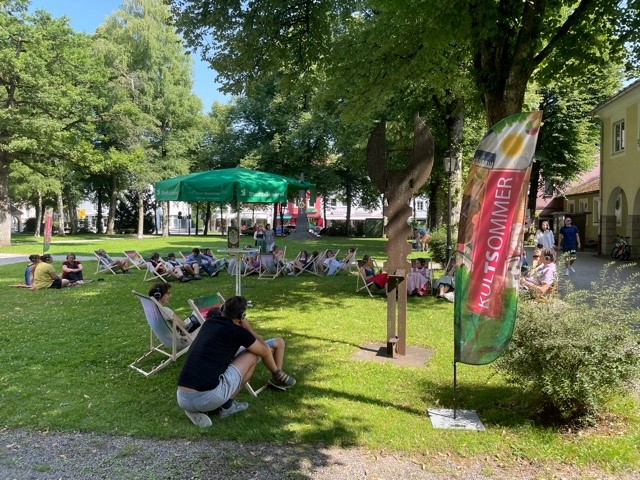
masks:
[[[71,27],[78,32],[94,33],[96,28],[113,12],[120,8],[121,0],[31,0],[30,10],[46,10],[53,17],[66,16]],[[214,101],[229,102],[229,97],[218,91],[215,71],[196,56],[192,56],[193,93],[202,100],[208,112]]]

